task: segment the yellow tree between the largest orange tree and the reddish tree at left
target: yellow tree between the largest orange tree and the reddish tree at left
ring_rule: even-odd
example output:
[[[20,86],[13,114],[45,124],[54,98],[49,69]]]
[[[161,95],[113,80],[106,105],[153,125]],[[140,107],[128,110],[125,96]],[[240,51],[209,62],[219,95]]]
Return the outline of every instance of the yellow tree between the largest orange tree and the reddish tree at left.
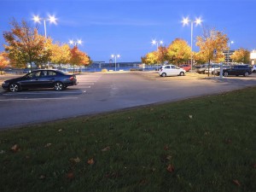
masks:
[[[52,44],[50,61],[56,64],[67,64],[71,58],[71,49],[68,44]]]

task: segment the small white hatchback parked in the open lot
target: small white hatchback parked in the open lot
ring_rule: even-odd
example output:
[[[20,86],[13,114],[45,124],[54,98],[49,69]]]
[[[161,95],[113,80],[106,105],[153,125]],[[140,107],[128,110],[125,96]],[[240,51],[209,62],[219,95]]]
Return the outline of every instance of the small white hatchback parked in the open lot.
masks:
[[[161,77],[166,77],[166,76],[183,76],[186,74],[186,71],[183,68],[177,67],[175,65],[166,65],[166,66],[161,66],[158,73],[160,74]]]

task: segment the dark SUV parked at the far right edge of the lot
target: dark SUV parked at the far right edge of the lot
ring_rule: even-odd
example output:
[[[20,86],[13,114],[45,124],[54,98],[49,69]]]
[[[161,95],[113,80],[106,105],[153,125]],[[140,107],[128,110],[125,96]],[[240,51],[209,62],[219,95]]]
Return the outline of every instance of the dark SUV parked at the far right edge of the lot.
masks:
[[[243,75],[245,77],[249,76],[252,74],[252,68],[249,67],[248,65],[236,65],[233,67],[230,67],[230,69],[224,69],[223,70],[223,76],[227,77],[229,75]]]

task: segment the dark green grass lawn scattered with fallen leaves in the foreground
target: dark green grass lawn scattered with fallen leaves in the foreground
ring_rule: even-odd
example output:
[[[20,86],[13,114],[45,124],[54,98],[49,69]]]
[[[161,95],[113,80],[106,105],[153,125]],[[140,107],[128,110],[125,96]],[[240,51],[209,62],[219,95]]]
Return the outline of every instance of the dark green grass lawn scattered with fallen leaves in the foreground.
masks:
[[[255,96],[247,88],[1,131],[0,191],[255,192]]]

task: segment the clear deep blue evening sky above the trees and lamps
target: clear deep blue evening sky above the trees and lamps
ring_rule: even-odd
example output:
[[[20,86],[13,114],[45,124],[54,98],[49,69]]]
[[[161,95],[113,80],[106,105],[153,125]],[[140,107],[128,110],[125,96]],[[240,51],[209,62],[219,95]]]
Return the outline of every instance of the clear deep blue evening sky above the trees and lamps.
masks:
[[[152,39],[169,45],[175,38],[190,44],[190,26],[181,20],[201,17],[195,38],[202,27],[224,32],[231,49],[256,49],[256,0],[0,0],[0,50],[3,32],[9,31],[12,18],[35,26],[32,16],[55,15],[57,25],[46,23],[47,35],[61,43],[81,39],[79,49],[93,61],[106,61],[119,54],[119,61],[141,61],[141,56],[156,49]],[[44,25],[38,25],[44,35]]]

